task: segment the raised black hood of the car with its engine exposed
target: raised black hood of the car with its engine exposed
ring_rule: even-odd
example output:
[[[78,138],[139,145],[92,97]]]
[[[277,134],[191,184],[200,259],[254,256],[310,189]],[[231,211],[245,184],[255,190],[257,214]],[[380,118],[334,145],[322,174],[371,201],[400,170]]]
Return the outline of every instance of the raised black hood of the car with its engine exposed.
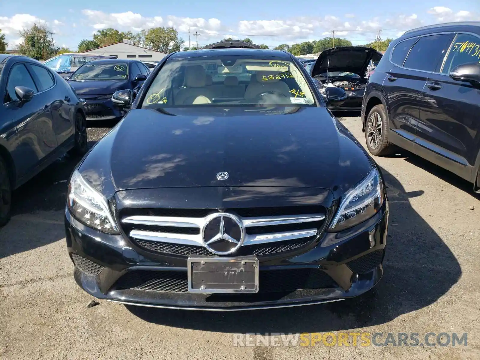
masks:
[[[312,69],[312,76],[325,72],[353,72],[364,76],[370,60],[380,61],[382,53],[374,48],[346,46],[322,51]]]

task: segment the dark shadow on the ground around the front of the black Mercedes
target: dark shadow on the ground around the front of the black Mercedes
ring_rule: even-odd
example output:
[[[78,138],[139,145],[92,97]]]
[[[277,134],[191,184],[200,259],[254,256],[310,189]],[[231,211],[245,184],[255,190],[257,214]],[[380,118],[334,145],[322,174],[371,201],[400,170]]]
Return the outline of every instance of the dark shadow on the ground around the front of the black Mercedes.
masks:
[[[431,305],[460,278],[454,254],[410,205],[423,191],[405,192],[383,170],[390,202],[385,274],[370,292],[349,300],[296,308],[197,312],[126,306],[141,319],[180,328],[224,333],[324,332],[385,324]]]

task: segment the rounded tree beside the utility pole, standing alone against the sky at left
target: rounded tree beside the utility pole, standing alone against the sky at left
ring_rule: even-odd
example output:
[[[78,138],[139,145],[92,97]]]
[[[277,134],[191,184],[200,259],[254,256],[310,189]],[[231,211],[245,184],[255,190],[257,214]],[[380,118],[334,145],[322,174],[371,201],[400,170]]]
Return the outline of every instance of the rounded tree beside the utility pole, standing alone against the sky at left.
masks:
[[[30,29],[20,31],[23,42],[18,46],[18,52],[36,60],[51,58],[55,55],[51,35],[45,25],[33,24]]]

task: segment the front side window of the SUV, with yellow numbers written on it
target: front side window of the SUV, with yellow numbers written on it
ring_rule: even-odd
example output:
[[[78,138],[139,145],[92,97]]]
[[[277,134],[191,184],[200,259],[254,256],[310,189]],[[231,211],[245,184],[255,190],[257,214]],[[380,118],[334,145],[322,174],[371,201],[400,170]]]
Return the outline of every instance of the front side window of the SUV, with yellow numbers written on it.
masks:
[[[448,52],[442,72],[448,74],[458,65],[480,62],[480,38],[458,34]]]

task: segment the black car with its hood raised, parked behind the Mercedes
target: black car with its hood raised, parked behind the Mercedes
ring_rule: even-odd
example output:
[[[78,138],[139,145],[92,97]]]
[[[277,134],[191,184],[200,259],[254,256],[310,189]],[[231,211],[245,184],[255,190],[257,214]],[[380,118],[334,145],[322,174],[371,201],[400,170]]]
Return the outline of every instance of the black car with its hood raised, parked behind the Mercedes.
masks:
[[[327,87],[340,87],[347,93],[347,101],[331,110],[359,111],[368,82],[367,68],[382,59],[382,53],[373,48],[345,46],[322,51],[313,65],[311,75],[320,85],[320,93]]]

